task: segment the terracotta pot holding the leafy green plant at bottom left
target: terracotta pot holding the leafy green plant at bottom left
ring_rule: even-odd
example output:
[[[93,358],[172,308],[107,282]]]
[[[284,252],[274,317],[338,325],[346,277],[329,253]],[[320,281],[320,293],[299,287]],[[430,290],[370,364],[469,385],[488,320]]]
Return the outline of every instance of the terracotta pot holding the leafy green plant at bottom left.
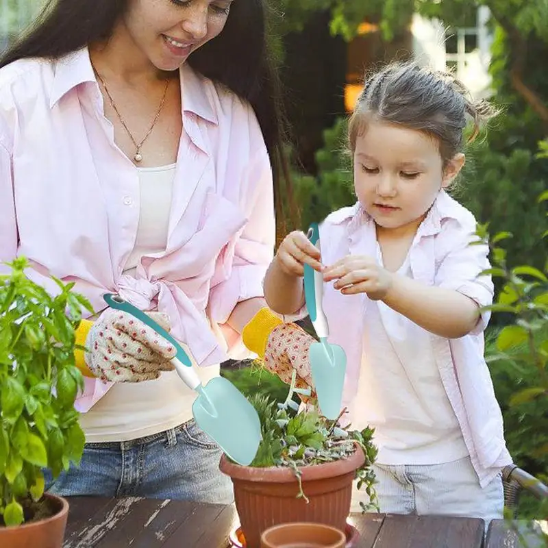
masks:
[[[6,548],[62,548],[69,503],[62,497],[44,493],[57,511],[47,519],[14,527],[0,527],[0,546]]]

